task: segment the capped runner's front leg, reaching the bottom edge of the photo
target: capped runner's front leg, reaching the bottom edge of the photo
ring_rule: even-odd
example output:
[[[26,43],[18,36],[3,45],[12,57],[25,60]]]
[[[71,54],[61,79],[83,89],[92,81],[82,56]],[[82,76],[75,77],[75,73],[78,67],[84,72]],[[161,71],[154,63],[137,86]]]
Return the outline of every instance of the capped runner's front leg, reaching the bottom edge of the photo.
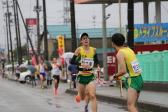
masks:
[[[94,81],[88,84],[89,96],[92,100],[92,112],[97,112],[96,84]]]

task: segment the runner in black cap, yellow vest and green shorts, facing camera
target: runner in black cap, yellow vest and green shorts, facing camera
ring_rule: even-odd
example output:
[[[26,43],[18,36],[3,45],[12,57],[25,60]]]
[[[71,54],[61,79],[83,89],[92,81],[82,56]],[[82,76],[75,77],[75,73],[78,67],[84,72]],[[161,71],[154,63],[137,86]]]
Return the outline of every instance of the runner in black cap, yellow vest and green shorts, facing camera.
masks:
[[[88,92],[90,99],[92,100],[92,112],[97,112],[97,99],[96,99],[96,85],[95,76],[93,74],[93,65],[99,67],[99,61],[97,59],[96,48],[89,46],[89,36],[87,33],[83,33],[80,36],[81,47],[77,48],[74,56],[71,60],[71,64],[78,65],[79,75],[77,77],[78,81],[78,95],[76,96],[76,101],[79,103],[83,101],[86,96],[86,85],[88,87]]]

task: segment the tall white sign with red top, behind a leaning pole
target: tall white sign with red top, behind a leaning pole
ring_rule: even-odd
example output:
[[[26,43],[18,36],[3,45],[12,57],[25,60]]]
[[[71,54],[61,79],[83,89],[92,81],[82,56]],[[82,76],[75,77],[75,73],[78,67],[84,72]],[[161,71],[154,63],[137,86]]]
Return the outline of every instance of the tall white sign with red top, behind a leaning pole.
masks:
[[[34,51],[37,52],[37,20],[36,19],[26,19],[26,24],[28,27],[28,33],[29,37],[31,39]],[[29,54],[33,54],[30,42],[28,42],[29,45]]]

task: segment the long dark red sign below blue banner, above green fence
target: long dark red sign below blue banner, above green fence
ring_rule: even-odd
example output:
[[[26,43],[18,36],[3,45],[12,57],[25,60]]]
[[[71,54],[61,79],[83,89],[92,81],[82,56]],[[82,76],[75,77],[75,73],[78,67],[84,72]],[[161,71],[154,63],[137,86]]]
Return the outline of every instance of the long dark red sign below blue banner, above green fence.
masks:
[[[159,52],[168,50],[168,44],[158,44],[158,45],[136,45],[134,47],[135,54],[145,54],[152,52]]]

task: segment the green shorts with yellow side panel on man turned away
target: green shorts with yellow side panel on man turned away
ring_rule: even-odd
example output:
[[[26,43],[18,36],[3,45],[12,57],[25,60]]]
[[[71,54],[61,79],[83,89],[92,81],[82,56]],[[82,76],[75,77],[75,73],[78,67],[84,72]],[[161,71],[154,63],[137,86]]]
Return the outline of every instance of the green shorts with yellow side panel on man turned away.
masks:
[[[139,75],[139,76],[127,78],[125,80],[125,87],[126,87],[126,90],[128,90],[129,87],[132,87],[135,90],[137,90],[138,93],[140,93],[140,91],[143,88],[143,79],[142,79],[142,76]]]

